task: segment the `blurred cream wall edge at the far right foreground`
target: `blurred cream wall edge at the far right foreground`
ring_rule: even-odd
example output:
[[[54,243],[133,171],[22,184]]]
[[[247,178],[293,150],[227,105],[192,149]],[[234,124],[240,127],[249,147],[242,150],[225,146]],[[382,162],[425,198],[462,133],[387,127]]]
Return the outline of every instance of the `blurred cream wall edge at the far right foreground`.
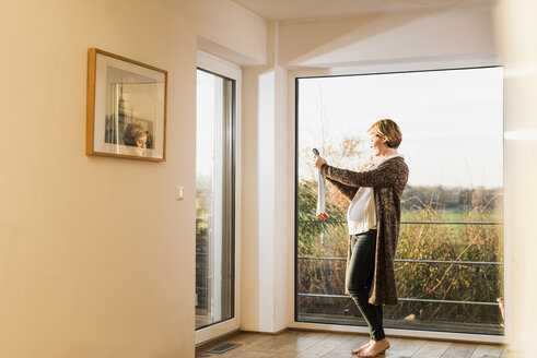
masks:
[[[505,59],[505,260],[510,357],[537,348],[537,2],[504,0],[497,12],[498,44]]]

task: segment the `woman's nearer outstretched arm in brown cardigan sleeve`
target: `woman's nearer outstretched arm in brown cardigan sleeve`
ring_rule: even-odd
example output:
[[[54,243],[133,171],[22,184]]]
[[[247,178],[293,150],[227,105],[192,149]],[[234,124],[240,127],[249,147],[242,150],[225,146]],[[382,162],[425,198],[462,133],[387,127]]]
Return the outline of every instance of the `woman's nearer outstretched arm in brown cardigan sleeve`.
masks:
[[[399,158],[389,159],[381,164],[378,168],[366,171],[352,171],[323,164],[320,174],[327,179],[332,179],[342,184],[354,187],[357,190],[358,187],[392,187],[396,184],[401,179],[401,175],[405,174],[402,166],[406,167],[406,165],[399,160]],[[402,164],[402,166],[400,164]]]

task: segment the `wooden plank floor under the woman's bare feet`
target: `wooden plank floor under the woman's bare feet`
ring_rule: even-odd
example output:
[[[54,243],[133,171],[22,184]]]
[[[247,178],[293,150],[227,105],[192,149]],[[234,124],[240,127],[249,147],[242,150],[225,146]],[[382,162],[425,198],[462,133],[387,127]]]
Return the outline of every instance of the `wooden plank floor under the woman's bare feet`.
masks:
[[[506,349],[499,345],[390,338],[386,358],[505,358]],[[201,346],[196,357],[234,358],[350,358],[350,350],[367,343],[369,336],[347,333],[285,331],[279,335],[241,332],[227,338]],[[225,343],[241,344],[224,354],[207,350]]]

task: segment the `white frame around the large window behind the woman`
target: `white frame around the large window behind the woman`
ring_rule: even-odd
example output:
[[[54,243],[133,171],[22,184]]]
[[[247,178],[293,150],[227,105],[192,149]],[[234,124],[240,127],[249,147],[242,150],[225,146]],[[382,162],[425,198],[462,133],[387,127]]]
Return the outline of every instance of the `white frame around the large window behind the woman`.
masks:
[[[427,71],[427,70],[456,70],[462,68],[481,68],[481,67],[502,67],[503,64],[499,59],[488,57],[480,59],[457,59],[456,61],[434,61],[434,62],[416,62],[416,63],[385,63],[378,65],[362,65],[362,67],[348,67],[348,68],[335,68],[335,69],[304,69],[289,71],[288,74],[288,118],[289,118],[289,157],[295,158],[295,139],[296,139],[296,79],[308,77],[308,76],[330,76],[330,75],[361,75],[361,74],[381,74],[381,73],[393,73],[393,72],[410,72],[410,71]],[[505,83],[504,83],[504,98],[505,98]],[[292,143],[292,144],[291,144]],[[505,155],[504,155],[505,158]],[[293,168],[295,166],[293,165]],[[504,295],[505,295],[505,335],[483,335],[483,334],[467,334],[467,333],[451,333],[451,332],[436,332],[436,331],[418,331],[418,330],[399,330],[399,329],[385,329],[387,335],[416,338],[417,336],[427,339],[442,339],[442,341],[457,341],[457,342],[470,342],[470,343],[500,343],[509,344],[511,336],[511,283],[509,277],[511,277],[511,262],[510,262],[510,216],[509,216],[509,203],[510,203],[510,183],[506,181],[507,176],[505,176],[506,164],[503,166],[503,190],[504,190],[504,222],[503,222],[503,234],[504,234]],[[288,206],[288,213],[290,213],[290,240],[288,246],[288,252],[292,256],[292,265],[290,265],[291,273],[288,275],[288,325],[291,329],[297,330],[318,330],[318,331],[329,331],[329,332],[346,332],[346,333],[362,333],[369,334],[369,329],[364,326],[349,326],[349,325],[335,325],[335,324],[320,324],[320,323],[306,323],[295,321],[295,242],[294,242],[294,201],[295,201],[295,174],[289,176],[288,179],[289,188],[293,188],[290,193]]]

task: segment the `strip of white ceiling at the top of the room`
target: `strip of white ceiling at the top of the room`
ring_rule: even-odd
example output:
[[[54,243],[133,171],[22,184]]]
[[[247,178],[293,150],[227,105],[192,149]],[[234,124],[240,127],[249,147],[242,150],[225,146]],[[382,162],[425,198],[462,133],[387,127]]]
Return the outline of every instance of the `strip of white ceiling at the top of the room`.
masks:
[[[355,15],[370,12],[398,12],[453,8],[494,0],[233,0],[268,20],[302,20]]]

